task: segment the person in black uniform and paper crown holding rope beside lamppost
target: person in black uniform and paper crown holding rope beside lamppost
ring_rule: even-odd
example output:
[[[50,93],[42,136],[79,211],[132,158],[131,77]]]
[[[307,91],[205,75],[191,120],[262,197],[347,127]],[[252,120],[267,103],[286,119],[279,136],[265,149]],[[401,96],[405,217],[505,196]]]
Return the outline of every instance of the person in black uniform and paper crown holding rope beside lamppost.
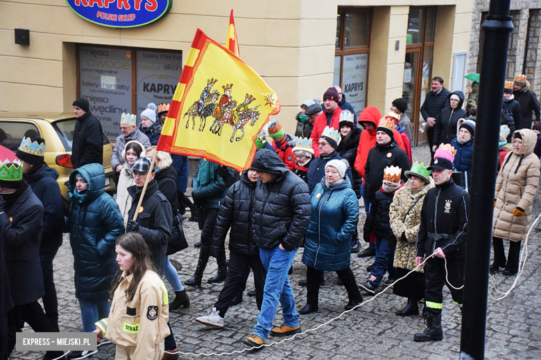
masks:
[[[467,206],[470,195],[451,179],[456,151],[449,144],[441,144],[428,170],[436,188],[427,192],[421,208],[421,224],[415,246],[415,262],[424,256],[424,300],[428,307],[427,329],[413,336],[414,341],[440,341],[443,284],[451,291],[456,305],[463,303],[464,268],[466,255]]]

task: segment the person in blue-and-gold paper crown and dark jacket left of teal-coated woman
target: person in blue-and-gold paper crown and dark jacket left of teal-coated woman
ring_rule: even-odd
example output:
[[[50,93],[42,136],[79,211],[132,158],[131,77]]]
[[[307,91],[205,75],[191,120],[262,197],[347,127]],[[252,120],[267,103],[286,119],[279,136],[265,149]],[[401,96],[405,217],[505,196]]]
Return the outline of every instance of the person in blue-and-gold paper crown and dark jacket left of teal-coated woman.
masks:
[[[30,145],[30,146],[28,146]],[[40,151],[42,149],[42,151]],[[37,151],[35,151],[37,150]],[[45,141],[43,138],[23,138],[17,150],[17,158],[22,161],[23,177],[32,192],[43,204],[42,242],[40,262],[42,264],[45,295],[43,307],[45,314],[58,330],[58,299],[53,278],[53,260],[62,245],[62,194],[56,182],[58,171],[49,168],[44,161]]]

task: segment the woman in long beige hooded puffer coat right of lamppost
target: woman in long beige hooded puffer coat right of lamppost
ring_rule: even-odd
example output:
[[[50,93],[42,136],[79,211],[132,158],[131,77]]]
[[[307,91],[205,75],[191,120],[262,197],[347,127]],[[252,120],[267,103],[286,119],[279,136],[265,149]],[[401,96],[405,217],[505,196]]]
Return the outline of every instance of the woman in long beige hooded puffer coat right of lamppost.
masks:
[[[540,161],[533,154],[536,141],[537,136],[530,129],[515,131],[515,147],[498,172],[492,217],[494,262],[490,265],[491,272],[503,267],[503,275],[510,276],[518,271],[520,243],[530,228],[533,197],[539,183]],[[507,260],[504,239],[510,240]]]

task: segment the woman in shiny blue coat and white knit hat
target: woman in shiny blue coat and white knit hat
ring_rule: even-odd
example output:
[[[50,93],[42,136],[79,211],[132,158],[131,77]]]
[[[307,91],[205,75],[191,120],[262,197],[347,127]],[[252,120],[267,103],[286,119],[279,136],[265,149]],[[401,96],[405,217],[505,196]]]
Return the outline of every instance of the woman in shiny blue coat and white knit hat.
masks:
[[[359,221],[359,202],[345,175],[347,161],[325,165],[325,177],[311,195],[312,215],[304,240],[302,262],[307,265],[307,305],[300,314],[318,311],[322,271],[336,271],[350,302],[349,310],[363,301],[350,267],[351,237]]]

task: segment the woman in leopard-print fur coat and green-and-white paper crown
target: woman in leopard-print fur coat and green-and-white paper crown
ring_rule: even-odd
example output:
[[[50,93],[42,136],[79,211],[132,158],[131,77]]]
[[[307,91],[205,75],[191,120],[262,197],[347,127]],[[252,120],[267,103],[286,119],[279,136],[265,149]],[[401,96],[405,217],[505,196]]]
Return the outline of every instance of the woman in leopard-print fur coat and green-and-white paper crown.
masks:
[[[390,228],[397,238],[395,260],[397,278],[406,276],[415,269],[415,241],[421,222],[421,208],[424,195],[434,187],[429,177],[429,170],[424,164],[415,162],[411,170],[404,172],[408,182],[395,192],[393,204],[390,204]],[[424,273],[422,267],[409,274],[407,278],[396,282],[393,294],[408,298],[404,309],[397,311],[397,316],[416,316],[419,314],[418,302],[424,298]],[[424,313],[424,310],[423,310]]]

